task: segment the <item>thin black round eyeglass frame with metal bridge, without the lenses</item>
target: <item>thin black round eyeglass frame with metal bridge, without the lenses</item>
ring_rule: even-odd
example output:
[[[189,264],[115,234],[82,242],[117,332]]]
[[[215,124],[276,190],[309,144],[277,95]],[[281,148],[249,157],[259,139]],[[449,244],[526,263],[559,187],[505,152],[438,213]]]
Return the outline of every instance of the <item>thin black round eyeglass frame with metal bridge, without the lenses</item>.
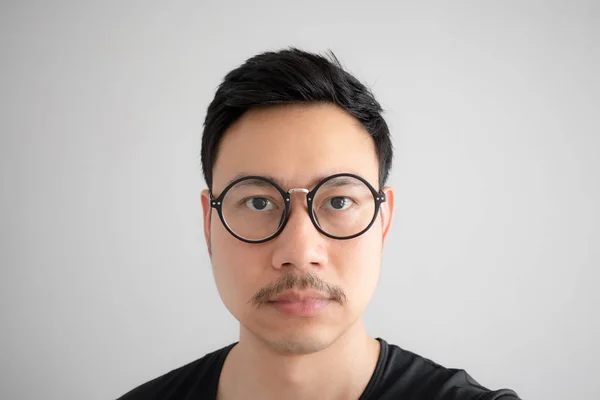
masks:
[[[354,179],[358,179],[359,181],[361,181],[362,183],[364,183],[367,188],[369,188],[369,190],[371,191],[371,194],[373,195],[373,200],[375,201],[375,210],[373,212],[373,218],[371,219],[371,222],[369,222],[369,224],[367,225],[366,228],[364,228],[362,231],[354,234],[354,235],[350,235],[350,236],[335,236],[335,235],[331,235],[327,232],[325,232],[318,224],[316,217],[314,215],[314,209],[312,207],[312,203],[313,203],[313,199],[314,199],[314,195],[317,192],[317,190],[319,190],[319,188],[321,186],[323,186],[325,183],[327,183],[328,181],[330,181],[331,179],[335,179],[335,178],[339,178],[342,176],[348,176]],[[258,240],[250,240],[250,239],[246,239],[243,238],[239,235],[237,235],[227,224],[227,221],[225,220],[225,217],[223,216],[223,199],[225,198],[225,196],[227,195],[227,192],[234,187],[236,184],[238,184],[241,181],[245,181],[245,180],[249,180],[249,179],[256,179],[256,180],[261,180],[261,181],[265,181],[267,183],[270,183],[271,185],[273,185],[281,194],[281,196],[283,197],[284,200],[284,204],[285,204],[285,210],[283,213],[282,218],[282,223],[280,224],[279,228],[277,229],[277,231],[275,233],[273,233],[271,236],[268,236],[264,239],[258,239]],[[369,182],[367,182],[364,178],[355,175],[355,174],[350,174],[350,173],[340,173],[340,174],[335,174],[335,175],[331,175],[326,177],[325,179],[323,179],[321,182],[317,183],[317,185],[312,189],[312,190],[308,190],[305,188],[292,188],[288,191],[285,191],[284,189],[282,189],[278,184],[276,184],[275,182],[273,182],[272,180],[265,178],[264,176],[243,176],[239,179],[236,179],[235,181],[231,182],[229,185],[227,185],[227,187],[225,189],[223,189],[223,191],[221,192],[221,194],[217,197],[217,198],[213,198],[213,194],[212,192],[210,192],[210,206],[211,208],[214,208],[217,210],[217,213],[219,214],[219,219],[221,220],[221,223],[223,224],[223,226],[225,227],[225,229],[227,229],[227,231],[236,239],[241,240],[242,242],[246,242],[246,243],[264,243],[267,242],[273,238],[275,238],[276,236],[278,236],[284,229],[285,226],[288,223],[289,220],[289,216],[290,216],[290,211],[291,211],[291,202],[292,202],[292,193],[298,192],[298,191],[303,191],[306,192],[306,204],[308,206],[309,209],[309,216],[310,216],[310,220],[312,221],[314,227],[317,229],[317,231],[319,231],[320,233],[322,233],[323,235],[332,238],[332,239],[337,239],[337,240],[348,240],[348,239],[353,239],[355,237],[358,237],[360,235],[362,235],[363,233],[365,233],[366,231],[368,231],[369,229],[371,229],[371,226],[373,226],[373,224],[375,223],[375,220],[377,219],[377,215],[379,214],[379,208],[381,206],[381,203],[384,203],[386,201],[386,196],[385,193],[380,190],[377,191],[375,190],[375,188],[373,186],[371,186],[371,184]]]

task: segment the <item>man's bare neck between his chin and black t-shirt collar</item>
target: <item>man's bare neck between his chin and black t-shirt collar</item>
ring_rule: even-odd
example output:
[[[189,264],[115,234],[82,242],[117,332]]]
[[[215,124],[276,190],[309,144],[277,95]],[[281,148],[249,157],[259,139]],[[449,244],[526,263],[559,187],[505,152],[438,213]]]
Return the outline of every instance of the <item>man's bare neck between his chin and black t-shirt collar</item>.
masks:
[[[359,398],[379,357],[379,343],[362,319],[329,347],[307,355],[282,354],[244,327],[219,379],[218,398]]]

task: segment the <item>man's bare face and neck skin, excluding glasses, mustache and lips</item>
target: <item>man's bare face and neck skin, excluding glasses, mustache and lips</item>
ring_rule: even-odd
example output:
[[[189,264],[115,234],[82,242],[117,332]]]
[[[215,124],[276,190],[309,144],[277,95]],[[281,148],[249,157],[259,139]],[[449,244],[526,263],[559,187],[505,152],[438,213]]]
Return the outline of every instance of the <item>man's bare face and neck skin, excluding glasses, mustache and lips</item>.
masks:
[[[330,104],[253,109],[225,133],[213,167],[218,196],[240,173],[269,175],[285,190],[312,189],[319,177],[349,172],[378,189],[373,139],[358,120]],[[240,322],[240,341],[219,380],[219,399],[357,399],[369,382],[379,343],[366,332],[363,313],[379,279],[383,244],[391,226],[394,193],[363,235],[336,240],[320,234],[306,196],[292,194],[283,232],[261,244],[227,232],[204,190],[204,234],[221,299]],[[331,302],[311,317],[282,314],[251,303],[283,274],[316,275],[339,287],[343,304]]]

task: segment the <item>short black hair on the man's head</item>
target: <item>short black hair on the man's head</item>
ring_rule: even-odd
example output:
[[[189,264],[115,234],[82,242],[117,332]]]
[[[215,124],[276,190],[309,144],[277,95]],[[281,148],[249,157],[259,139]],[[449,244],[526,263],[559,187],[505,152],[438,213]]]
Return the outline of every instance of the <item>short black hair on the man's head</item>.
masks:
[[[393,148],[383,110],[371,91],[328,57],[295,48],[265,52],[229,72],[208,106],[202,134],[204,179],[212,190],[212,168],[227,128],[246,111],[270,105],[332,103],[357,118],[375,142],[379,185],[392,166]]]

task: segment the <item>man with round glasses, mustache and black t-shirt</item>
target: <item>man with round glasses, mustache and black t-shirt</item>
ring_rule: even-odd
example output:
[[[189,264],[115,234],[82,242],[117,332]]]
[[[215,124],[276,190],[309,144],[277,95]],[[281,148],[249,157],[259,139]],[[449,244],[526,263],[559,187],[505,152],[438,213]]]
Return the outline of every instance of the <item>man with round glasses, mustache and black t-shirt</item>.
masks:
[[[335,57],[268,52],[225,77],[201,203],[240,339],[121,399],[517,399],[366,332],[394,212],[381,112]]]

